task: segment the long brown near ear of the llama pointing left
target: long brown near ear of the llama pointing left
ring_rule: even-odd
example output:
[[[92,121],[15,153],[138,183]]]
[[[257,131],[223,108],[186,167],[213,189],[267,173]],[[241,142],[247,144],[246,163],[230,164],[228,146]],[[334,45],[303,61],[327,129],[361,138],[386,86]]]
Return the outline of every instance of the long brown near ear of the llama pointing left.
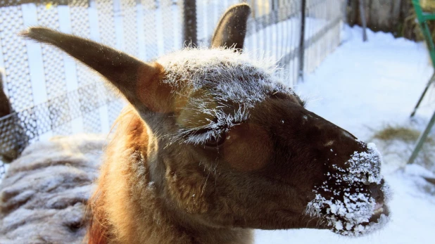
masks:
[[[137,110],[163,113],[170,109],[170,86],[161,82],[164,70],[158,63],[144,63],[108,46],[44,27],[31,27],[20,34],[56,46],[96,70]]]

